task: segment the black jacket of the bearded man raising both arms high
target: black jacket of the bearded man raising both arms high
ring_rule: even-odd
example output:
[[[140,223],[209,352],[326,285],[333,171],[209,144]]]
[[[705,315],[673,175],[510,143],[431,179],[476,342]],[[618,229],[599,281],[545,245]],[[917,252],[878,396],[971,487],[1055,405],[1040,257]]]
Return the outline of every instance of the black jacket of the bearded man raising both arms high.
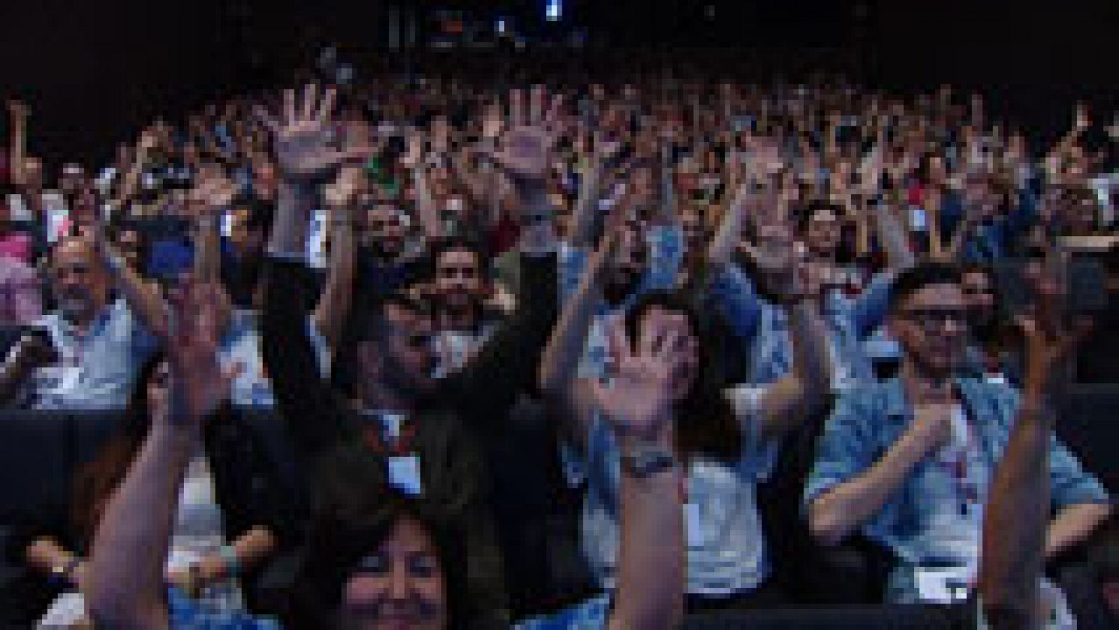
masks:
[[[524,256],[521,265],[525,289],[517,313],[470,363],[440,381],[424,411],[408,419],[415,428],[424,502],[439,506],[442,516],[458,521],[466,532],[471,627],[508,624],[487,469],[477,440],[500,427],[517,394],[535,380],[557,312],[555,257]],[[348,460],[355,450],[383,459],[368,446],[367,421],[320,376],[307,334],[307,300],[300,295],[305,273],[299,262],[269,261],[262,321],[264,363],[292,443],[311,471]],[[379,427],[373,430],[379,432]],[[387,464],[377,468],[383,476],[372,493],[387,486]]]

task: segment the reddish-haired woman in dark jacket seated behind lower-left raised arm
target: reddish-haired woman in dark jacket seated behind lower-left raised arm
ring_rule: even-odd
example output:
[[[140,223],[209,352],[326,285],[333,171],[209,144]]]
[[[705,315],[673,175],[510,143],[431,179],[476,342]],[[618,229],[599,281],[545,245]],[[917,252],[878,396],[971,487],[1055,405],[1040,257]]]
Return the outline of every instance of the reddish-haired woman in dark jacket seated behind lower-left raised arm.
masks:
[[[85,556],[109,499],[148,438],[152,417],[167,405],[167,373],[162,354],[143,365],[113,436],[75,471],[69,505],[43,506],[16,526],[15,548],[40,579],[39,593],[54,598],[43,623],[82,622]],[[290,531],[290,502],[266,478],[271,464],[228,407],[215,413],[205,438],[180,493],[167,580],[219,608],[241,609],[245,601],[238,580],[253,576],[279,547],[281,532]]]

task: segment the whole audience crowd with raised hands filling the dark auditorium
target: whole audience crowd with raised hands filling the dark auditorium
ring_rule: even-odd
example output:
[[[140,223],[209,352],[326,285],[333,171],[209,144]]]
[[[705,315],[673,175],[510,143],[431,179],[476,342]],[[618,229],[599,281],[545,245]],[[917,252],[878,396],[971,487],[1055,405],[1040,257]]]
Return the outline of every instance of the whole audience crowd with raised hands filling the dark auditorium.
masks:
[[[21,622],[826,628],[800,581],[857,540],[883,620],[1113,623],[1113,566],[1046,572],[1117,545],[1053,437],[1115,346],[1087,107],[1041,151],[947,86],[618,75],[245,95],[53,185],[9,103],[0,402],[121,412],[68,505],[0,515]]]

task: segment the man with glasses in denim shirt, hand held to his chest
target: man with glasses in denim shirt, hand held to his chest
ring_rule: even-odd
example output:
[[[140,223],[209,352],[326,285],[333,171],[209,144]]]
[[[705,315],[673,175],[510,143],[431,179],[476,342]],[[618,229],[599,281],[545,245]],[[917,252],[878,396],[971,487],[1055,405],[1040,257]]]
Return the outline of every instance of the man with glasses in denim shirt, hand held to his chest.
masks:
[[[810,527],[826,544],[856,531],[897,560],[887,599],[953,601],[971,584],[982,513],[1021,397],[956,378],[968,342],[959,271],[923,264],[894,283],[887,326],[902,346],[897,379],[861,383],[836,404],[805,490]],[[1055,440],[1045,557],[1084,540],[1109,514],[1108,495]]]

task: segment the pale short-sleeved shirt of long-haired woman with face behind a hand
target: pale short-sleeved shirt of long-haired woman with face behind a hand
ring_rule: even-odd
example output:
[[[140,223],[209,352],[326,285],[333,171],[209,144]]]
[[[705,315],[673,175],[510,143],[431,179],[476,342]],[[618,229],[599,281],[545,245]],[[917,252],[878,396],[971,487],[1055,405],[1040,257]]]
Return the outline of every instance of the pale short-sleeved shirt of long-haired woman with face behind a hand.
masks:
[[[759,390],[727,391],[743,427],[742,457],[733,464],[696,456],[688,465],[687,504],[697,518],[688,527],[687,592],[727,595],[750,591],[770,575],[756,485],[769,478],[777,460],[775,442],[762,440],[754,409]],[[687,421],[687,419],[684,419]],[[582,544],[591,571],[602,589],[613,589],[620,550],[621,464],[618,441],[609,422],[596,417],[582,461],[566,454],[570,481],[586,480]]]

